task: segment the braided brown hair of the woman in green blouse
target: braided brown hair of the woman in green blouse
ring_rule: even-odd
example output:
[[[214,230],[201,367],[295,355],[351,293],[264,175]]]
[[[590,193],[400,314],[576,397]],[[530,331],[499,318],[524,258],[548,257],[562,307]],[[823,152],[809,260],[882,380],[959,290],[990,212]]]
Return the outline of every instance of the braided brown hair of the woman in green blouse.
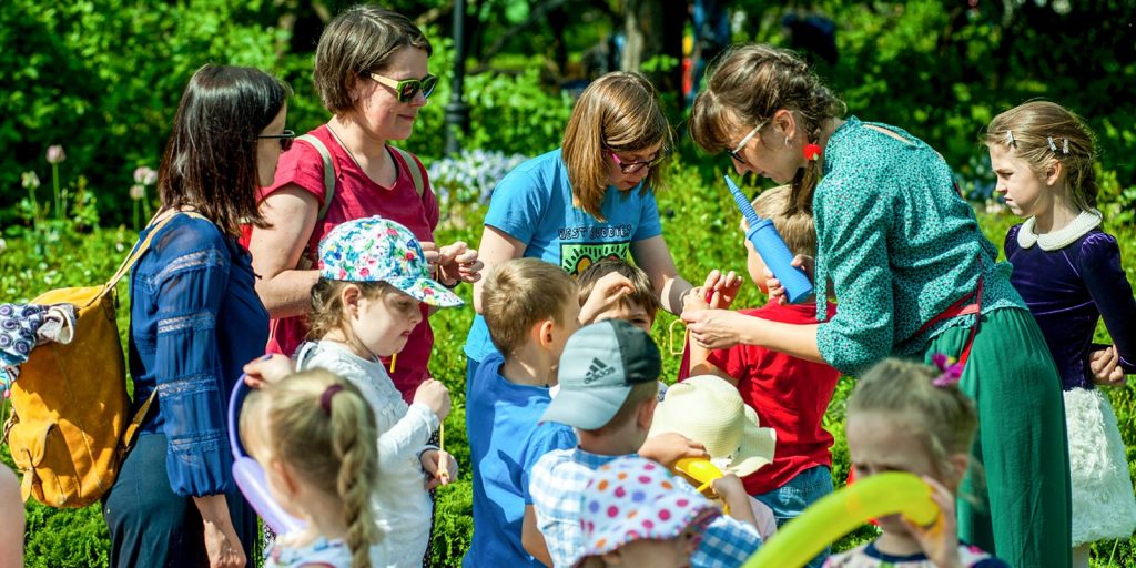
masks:
[[[843,116],[847,107],[796,53],[770,45],[737,45],[724,52],[707,73],[707,87],[694,99],[691,111],[691,136],[708,152],[732,150],[727,148],[732,128],[768,126],[782,109],[794,112],[807,142],[815,143],[824,122]],[[758,140],[768,148],[760,133]],[[812,192],[819,178],[818,160],[810,160],[796,173],[788,215],[812,214]]]

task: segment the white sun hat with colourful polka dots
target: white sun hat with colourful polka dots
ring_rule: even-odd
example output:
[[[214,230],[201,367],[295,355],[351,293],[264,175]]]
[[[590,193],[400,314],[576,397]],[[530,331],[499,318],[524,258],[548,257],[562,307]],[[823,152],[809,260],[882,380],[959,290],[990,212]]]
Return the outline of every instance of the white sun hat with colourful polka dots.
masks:
[[[630,542],[675,538],[721,515],[708,499],[682,491],[678,483],[667,468],[644,458],[618,458],[596,469],[584,490],[584,550],[574,566]]]

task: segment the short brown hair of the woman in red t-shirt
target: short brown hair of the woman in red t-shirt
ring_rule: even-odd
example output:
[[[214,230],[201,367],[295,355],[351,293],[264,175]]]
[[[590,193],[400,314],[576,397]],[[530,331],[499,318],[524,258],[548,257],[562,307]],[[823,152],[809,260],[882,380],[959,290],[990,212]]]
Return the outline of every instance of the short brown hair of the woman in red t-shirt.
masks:
[[[434,53],[429,40],[406,16],[373,5],[348,8],[319,36],[316,45],[316,91],[327,110],[341,115],[354,108],[351,90],[367,72],[382,72],[394,52],[415,48]]]

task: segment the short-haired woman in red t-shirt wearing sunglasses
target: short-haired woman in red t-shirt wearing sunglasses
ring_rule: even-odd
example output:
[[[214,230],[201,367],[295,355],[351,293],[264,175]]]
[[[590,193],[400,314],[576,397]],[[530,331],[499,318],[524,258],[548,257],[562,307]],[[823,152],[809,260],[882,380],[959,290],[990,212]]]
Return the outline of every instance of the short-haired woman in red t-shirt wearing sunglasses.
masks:
[[[379,215],[409,228],[423,243],[434,277],[448,286],[478,278],[477,251],[466,243],[434,243],[438,207],[421,162],[391,141],[410,136],[418,111],[437,84],[429,41],[406,16],[357,6],[336,16],[316,48],[316,89],[333,116],[309,134],[326,148],[334,192],[326,201],[325,161],[306,140],[281,157],[276,182],[262,191],[260,214],[269,228],[248,239],[257,292],[273,317],[270,352],[292,354],[307,335],[303,314],[319,279],[319,240],[346,220]],[[428,315],[391,368],[408,403],[429,378],[434,344]]]

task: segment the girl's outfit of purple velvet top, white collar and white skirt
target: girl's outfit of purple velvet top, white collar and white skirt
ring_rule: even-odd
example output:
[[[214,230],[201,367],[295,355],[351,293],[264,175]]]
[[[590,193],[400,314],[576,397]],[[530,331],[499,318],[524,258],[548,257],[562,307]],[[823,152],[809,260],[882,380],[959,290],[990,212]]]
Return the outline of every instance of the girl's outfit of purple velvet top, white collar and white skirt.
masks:
[[[1088,367],[1089,354],[1104,346],[1093,344],[1103,315],[1125,373],[1136,371],[1136,301],[1117,240],[1094,228],[1099,223],[1100,214],[1083,212],[1063,229],[1036,235],[1030,219],[1005,239],[1010,282],[1037,319],[1064,387],[1074,546],[1126,538],[1136,529],[1117,416],[1105,393],[1094,389]]]

